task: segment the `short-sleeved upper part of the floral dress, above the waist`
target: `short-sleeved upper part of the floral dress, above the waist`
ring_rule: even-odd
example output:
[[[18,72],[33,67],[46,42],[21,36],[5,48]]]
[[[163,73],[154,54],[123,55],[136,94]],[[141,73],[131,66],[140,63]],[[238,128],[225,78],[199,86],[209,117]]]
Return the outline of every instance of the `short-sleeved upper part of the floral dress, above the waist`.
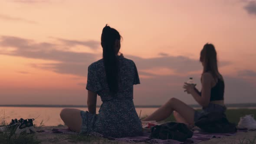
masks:
[[[103,59],[89,66],[87,79],[86,89],[96,92],[103,102],[114,98],[133,98],[133,85],[140,83],[135,63],[122,56],[118,56],[118,92],[115,95],[109,91]]]

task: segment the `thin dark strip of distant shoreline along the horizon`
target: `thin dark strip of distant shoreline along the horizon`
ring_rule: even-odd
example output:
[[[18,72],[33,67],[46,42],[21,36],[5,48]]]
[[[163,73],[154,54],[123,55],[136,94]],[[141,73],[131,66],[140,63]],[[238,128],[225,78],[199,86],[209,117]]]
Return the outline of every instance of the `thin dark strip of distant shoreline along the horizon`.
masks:
[[[159,108],[161,105],[135,105],[135,108]],[[200,108],[200,105],[190,105],[193,108]],[[87,108],[87,105],[0,105],[0,107],[37,107],[37,108]],[[256,103],[226,104],[226,107],[249,108],[256,107]],[[100,105],[97,105],[100,108]]]

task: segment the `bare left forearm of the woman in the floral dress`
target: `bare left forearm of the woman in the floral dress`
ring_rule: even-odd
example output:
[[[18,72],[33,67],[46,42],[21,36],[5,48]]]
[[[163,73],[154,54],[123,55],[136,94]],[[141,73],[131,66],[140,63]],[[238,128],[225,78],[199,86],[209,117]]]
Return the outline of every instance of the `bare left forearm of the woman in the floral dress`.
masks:
[[[88,91],[87,107],[91,114],[96,114],[97,93]]]

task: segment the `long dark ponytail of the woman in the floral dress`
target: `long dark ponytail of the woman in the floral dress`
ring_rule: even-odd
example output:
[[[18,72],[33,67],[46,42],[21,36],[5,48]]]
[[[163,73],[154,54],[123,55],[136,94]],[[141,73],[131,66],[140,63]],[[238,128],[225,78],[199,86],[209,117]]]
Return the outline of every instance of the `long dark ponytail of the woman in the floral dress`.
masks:
[[[118,60],[116,41],[120,43],[121,36],[116,29],[106,25],[102,30],[101,45],[103,48],[103,61],[107,76],[108,88],[112,96],[118,92]]]

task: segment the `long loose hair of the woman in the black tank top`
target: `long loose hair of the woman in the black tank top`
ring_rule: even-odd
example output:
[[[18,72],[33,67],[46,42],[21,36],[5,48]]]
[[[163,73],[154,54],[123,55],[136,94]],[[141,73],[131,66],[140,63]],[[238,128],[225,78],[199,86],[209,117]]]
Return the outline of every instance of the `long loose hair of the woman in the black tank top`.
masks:
[[[200,52],[200,62],[203,63],[203,73],[210,72],[214,79],[223,80],[218,70],[217,52],[213,44],[207,43],[203,46]]]

